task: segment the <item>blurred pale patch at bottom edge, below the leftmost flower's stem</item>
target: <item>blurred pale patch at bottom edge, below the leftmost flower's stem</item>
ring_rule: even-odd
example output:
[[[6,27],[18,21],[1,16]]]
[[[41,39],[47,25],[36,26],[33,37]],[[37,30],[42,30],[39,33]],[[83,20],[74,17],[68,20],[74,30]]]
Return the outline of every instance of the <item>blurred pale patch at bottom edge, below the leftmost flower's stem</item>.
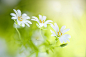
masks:
[[[30,55],[30,48],[25,48],[24,46],[21,47],[21,49],[18,51],[16,57],[27,57]]]

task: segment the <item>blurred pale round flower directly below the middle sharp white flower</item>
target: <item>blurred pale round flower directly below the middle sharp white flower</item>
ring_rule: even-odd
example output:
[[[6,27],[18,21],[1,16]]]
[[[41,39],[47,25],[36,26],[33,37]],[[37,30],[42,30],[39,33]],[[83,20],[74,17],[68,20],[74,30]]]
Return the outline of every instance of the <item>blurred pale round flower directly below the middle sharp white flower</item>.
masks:
[[[44,42],[44,39],[43,37],[41,36],[40,34],[40,31],[39,30],[36,30],[34,32],[34,34],[32,35],[32,38],[31,38],[32,42],[35,44],[35,45],[40,45]]]

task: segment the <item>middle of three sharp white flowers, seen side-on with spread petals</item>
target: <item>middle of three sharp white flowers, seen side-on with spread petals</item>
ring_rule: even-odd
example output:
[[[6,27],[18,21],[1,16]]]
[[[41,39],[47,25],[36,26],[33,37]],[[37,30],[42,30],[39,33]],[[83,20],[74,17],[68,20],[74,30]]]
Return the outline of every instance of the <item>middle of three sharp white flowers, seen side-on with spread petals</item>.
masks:
[[[39,15],[39,19],[37,18],[37,17],[35,17],[35,16],[32,16],[32,18],[33,19],[31,19],[31,20],[34,20],[34,21],[37,21],[38,22],[38,26],[39,27],[47,27],[47,24],[51,24],[50,22],[53,22],[53,21],[51,21],[51,20],[47,20],[47,21],[45,21],[46,20],[46,16],[43,16],[42,17],[42,15]]]

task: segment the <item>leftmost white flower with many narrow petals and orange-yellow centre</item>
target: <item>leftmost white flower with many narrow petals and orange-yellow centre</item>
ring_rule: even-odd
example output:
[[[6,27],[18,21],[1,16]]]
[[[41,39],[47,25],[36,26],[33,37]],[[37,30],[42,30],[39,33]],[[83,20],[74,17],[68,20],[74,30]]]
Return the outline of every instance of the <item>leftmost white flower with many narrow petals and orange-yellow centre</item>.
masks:
[[[25,27],[25,24],[28,27],[30,27],[29,24],[32,24],[32,23],[29,20],[27,20],[27,19],[30,19],[30,17],[27,16],[27,14],[25,14],[25,13],[21,15],[21,11],[20,10],[17,10],[17,11],[15,9],[13,9],[13,10],[14,10],[14,12],[16,14],[15,13],[11,13],[11,15],[13,16],[11,19],[16,20],[18,25],[22,25],[22,27]]]

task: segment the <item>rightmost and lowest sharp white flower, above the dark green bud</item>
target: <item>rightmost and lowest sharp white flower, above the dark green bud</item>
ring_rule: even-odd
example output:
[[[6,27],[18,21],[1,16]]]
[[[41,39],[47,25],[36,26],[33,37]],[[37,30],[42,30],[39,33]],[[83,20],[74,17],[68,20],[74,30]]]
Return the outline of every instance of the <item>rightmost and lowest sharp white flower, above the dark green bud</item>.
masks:
[[[55,25],[55,26],[54,26],[54,25]],[[52,31],[52,30],[50,30],[51,33],[52,33],[51,36],[56,36],[57,38],[59,38],[59,40],[60,40],[61,43],[63,43],[63,42],[66,43],[67,40],[69,41],[68,38],[71,38],[71,36],[70,36],[69,34],[64,34],[64,33],[67,32],[67,31],[69,31],[70,29],[65,29],[66,26],[62,26],[61,29],[60,29],[60,31],[59,31],[58,25],[57,25],[56,23],[54,23],[54,25],[51,24],[51,27],[55,30],[55,32]],[[64,30],[64,29],[65,29],[65,30]],[[64,35],[63,35],[63,34],[64,34]]]

